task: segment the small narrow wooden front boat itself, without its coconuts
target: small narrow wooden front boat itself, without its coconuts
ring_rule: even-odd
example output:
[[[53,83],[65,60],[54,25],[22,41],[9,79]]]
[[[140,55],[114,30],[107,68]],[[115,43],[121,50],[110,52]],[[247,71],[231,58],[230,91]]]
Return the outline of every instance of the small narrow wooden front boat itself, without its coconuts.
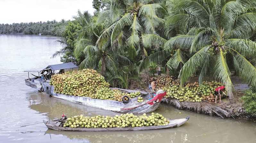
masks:
[[[69,128],[63,127],[63,124],[66,120],[57,120],[57,121],[45,121],[44,124],[48,129],[53,129],[57,131],[134,131],[134,130],[156,130],[156,129],[165,129],[165,128],[175,128],[183,125],[189,116],[182,119],[169,119],[170,123],[167,125],[159,126],[145,126],[145,127],[120,127],[120,128]]]

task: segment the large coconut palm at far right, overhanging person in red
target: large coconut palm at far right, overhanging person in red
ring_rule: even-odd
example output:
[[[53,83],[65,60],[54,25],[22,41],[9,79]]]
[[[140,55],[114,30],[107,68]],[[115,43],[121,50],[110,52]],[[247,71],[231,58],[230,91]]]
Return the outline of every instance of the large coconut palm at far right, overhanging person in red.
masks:
[[[181,85],[192,74],[199,73],[199,82],[210,72],[226,85],[231,103],[235,103],[231,72],[256,85],[255,0],[169,0],[171,14],[167,26],[179,34],[166,41],[165,48],[189,49],[192,56],[183,65]]]

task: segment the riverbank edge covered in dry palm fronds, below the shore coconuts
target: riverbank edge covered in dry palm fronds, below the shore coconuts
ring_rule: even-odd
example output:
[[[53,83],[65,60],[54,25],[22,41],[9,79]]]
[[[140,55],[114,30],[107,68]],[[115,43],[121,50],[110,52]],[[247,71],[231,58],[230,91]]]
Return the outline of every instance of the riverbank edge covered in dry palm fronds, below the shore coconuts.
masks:
[[[162,75],[164,76],[164,75]],[[143,77],[143,76],[142,76]],[[209,79],[211,81],[213,79]],[[221,118],[231,118],[235,120],[242,120],[242,121],[256,121],[256,117],[251,116],[250,114],[245,112],[243,108],[243,100],[241,97],[244,94],[244,91],[248,90],[248,84],[244,83],[238,76],[233,76],[231,78],[233,86],[235,88],[234,98],[235,103],[231,104],[229,98],[222,99],[223,102],[180,102],[175,98],[163,98],[162,103],[165,103],[169,106],[173,106],[176,109],[188,110],[191,112],[196,112],[198,114],[206,114],[209,116],[217,116]],[[194,77],[190,80],[191,83],[198,81],[198,77]],[[149,92],[150,90],[147,89],[146,85],[140,90],[145,89],[144,91]],[[138,90],[138,89],[137,89]]]

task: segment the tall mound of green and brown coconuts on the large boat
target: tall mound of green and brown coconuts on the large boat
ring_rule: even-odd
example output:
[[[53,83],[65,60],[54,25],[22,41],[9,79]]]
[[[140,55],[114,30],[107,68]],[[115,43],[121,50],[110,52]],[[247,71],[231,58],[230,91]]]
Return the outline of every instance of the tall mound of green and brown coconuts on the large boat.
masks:
[[[90,97],[101,100],[123,101],[123,96],[135,98],[141,93],[122,93],[118,89],[110,89],[110,84],[105,78],[93,69],[83,69],[81,71],[66,72],[63,74],[55,74],[49,81],[53,85],[54,92],[59,94]],[[125,98],[128,100],[128,98]]]

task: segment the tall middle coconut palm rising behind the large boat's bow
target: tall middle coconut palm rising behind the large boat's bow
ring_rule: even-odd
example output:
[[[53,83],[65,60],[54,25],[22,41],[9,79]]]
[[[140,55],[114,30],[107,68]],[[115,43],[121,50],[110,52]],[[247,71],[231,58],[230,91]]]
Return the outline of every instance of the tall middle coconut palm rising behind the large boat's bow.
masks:
[[[110,25],[97,41],[98,47],[111,46],[113,51],[140,49],[142,59],[147,51],[142,44],[142,35],[156,34],[161,19],[160,0],[110,0],[110,9],[99,15],[97,23],[110,20]],[[149,81],[147,70],[146,80]]]

